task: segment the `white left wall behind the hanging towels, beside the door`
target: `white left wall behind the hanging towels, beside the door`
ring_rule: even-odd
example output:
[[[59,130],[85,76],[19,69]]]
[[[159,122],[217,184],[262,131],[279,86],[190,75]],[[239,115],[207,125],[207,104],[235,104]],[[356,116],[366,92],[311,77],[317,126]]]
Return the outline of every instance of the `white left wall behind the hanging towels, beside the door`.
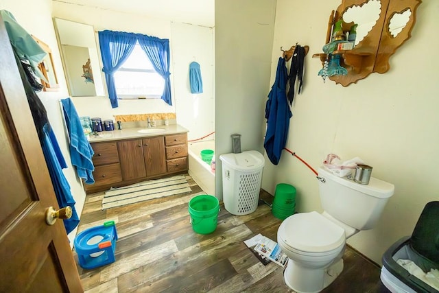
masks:
[[[76,176],[76,170],[71,165],[67,134],[64,131],[64,119],[62,117],[59,101],[60,99],[68,97],[69,93],[67,93],[67,84],[64,82],[65,79],[64,73],[62,72],[60,53],[56,41],[54,25],[51,20],[51,3],[51,0],[2,0],[0,9],[12,12],[16,21],[27,30],[29,34],[43,40],[43,42],[49,45],[52,50],[54,67],[58,76],[58,82],[60,82],[60,90],[50,93],[40,92],[38,93],[38,97],[40,97],[47,110],[50,124],[54,129],[62,154],[67,162],[68,167],[67,169],[63,169],[63,172],[69,181],[71,193],[76,201],[75,207],[78,215],[80,215],[82,207],[84,207],[85,192],[82,188],[80,179]],[[23,7],[26,9],[23,9]],[[72,231],[69,234],[71,246],[73,246],[75,235],[76,231]]]

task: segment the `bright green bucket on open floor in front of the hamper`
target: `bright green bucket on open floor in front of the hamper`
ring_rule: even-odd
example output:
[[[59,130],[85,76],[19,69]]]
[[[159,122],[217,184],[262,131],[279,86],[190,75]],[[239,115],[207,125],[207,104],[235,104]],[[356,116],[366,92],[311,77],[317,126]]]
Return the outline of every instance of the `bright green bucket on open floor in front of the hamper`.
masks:
[[[215,196],[201,195],[189,200],[189,214],[193,231],[209,234],[217,228],[219,200]]]

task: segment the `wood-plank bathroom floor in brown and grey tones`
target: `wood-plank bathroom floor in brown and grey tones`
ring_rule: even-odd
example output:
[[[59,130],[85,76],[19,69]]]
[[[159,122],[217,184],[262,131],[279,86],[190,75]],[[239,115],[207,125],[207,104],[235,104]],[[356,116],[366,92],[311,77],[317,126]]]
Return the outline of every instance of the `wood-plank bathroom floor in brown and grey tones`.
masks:
[[[116,261],[94,270],[78,266],[86,292],[293,292],[283,268],[263,266],[243,243],[261,233],[276,241],[281,220],[261,202],[249,215],[231,215],[221,206],[214,233],[193,232],[188,202],[204,194],[187,176],[191,194],[149,200],[102,211],[103,193],[87,196],[78,231],[115,220]],[[272,196],[261,191],[261,199]],[[78,263],[78,255],[73,251]],[[323,292],[386,292],[380,268],[353,249],[344,271]]]

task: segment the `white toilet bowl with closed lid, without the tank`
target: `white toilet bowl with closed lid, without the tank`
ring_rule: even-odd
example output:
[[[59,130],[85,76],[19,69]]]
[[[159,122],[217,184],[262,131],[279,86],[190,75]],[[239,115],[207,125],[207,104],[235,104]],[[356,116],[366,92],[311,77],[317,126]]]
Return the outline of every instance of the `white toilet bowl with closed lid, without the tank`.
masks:
[[[316,211],[297,213],[285,219],[278,229],[278,244],[289,258],[284,279],[296,292],[320,292],[343,269],[325,277],[328,268],[341,256],[346,244],[344,229]]]

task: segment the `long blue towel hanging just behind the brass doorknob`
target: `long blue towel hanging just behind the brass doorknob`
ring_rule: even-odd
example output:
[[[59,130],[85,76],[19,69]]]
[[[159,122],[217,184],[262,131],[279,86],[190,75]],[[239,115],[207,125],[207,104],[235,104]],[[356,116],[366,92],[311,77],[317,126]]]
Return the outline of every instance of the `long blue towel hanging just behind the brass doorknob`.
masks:
[[[69,234],[76,226],[78,226],[80,218],[78,218],[78,213],[75,209],[76,202],[71,194],[69,182],[64,176],[64,173],[62,173],[62,168],[67,167],[67,164],[64,161],[58,141],[56,141],[54,132],[51,130],[49,124],[46,124],[43,127],[43,132],[44,137],[41,147],[43,148],[43,154],[46,160],[47,169],[49,169],[52,185],[54,185],[58,205],[60,208],[69,206],[72,209],[71,218],[63,221],[67,234]]]

